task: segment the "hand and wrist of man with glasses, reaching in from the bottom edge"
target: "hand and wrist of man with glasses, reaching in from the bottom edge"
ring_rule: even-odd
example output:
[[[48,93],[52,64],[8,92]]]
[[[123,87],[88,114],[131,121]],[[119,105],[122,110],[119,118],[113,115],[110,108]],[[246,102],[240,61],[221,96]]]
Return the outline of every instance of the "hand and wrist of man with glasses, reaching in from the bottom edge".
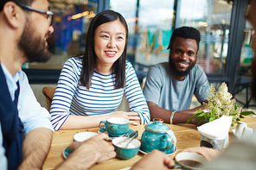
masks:
[[[95,135],[85,142],[73,142],[74,152],[56,169],[89,169],[95,163],[107,161],[116,156],[114,147],[108,142],[108,135]]]

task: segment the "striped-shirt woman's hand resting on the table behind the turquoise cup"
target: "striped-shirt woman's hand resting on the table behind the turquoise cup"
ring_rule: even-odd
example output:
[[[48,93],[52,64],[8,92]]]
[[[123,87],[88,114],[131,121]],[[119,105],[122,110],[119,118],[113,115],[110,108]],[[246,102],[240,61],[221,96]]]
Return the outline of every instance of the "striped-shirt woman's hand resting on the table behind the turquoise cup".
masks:
[[[138,116],[138,113],[134,111],[115,111],[111,116],[121,116],[128,119],[131,125],[140,125],[140,117]]]

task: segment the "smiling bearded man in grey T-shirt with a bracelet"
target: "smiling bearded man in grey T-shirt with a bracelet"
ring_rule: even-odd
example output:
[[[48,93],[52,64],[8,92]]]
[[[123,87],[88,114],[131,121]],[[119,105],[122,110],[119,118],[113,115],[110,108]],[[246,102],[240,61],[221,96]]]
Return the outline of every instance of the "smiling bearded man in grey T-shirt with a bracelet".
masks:
[[[209,93],[208,78],[201,66],[195,64],[200,32],[195,28],[176,28],[170,38],[170,62],[151,66],[144,85],[144,97],[151,120],[164,123],[187,123],[201,105],[189,110],[193,94],[203,104]],[[197,124],[194,118],[190,123]]]

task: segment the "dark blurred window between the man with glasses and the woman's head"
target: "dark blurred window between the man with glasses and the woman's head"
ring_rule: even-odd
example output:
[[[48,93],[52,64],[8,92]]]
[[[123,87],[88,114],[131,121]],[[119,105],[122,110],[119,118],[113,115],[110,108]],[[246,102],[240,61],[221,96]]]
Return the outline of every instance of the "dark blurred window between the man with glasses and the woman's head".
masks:
[[[98,0],[48,0],[54,11],[54,33],[48,38],[53,54],[47,63],[29,63],[23,68],[61,69],[64,62],[77,54],[85,53],[86,32],[97,14]]]

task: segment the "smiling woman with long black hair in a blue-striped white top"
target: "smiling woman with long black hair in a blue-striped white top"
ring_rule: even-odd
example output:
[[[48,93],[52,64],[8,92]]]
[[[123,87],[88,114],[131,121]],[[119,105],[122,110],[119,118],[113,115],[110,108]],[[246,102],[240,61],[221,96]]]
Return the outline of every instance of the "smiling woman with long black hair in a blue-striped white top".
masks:
[[[54,92],[50,114],[54,129],[96,127],[112,116],[133,125],[150,113],[131,63],[126,61],[128,28],[112,10],[95,16],[86,37],[86,53],[66,61]],[[123,94],[130,112],[116,111]]]

